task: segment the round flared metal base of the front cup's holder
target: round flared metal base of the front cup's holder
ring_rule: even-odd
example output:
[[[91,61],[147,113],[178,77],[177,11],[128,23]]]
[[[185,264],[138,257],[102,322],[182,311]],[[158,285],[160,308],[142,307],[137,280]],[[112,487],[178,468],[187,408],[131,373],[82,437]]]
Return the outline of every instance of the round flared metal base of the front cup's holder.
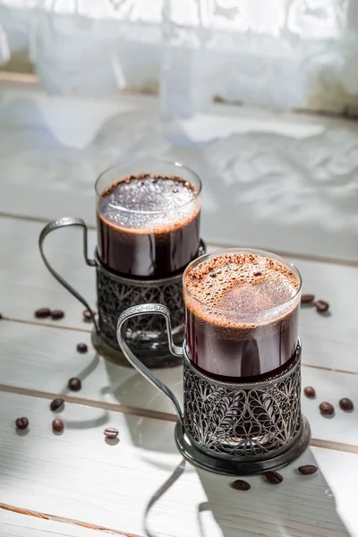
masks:
[[[198,447],[192,444],[179,422],[175,427],[175,442],[180,453],[192,465],[222,475],[259,475],[273,470],[279,470],[302,455],[310,439],[310,425],[303,416],[302,424],[294,444],[288,447],[283,453],[279,455],[272,454],[270,458],[260,461],[234,461],[203,453]]]

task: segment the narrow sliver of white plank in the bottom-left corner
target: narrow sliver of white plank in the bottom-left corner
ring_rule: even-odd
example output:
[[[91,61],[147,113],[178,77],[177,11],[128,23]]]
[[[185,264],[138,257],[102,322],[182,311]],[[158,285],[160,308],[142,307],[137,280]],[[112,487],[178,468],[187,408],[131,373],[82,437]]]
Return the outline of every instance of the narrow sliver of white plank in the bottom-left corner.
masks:
[[[107,528],[97,529],[90,524],[81,521],[70,521],[59,519],[56,516],[21,509],[21,507],[0,505],[0,536],[1,537],[103,537],[115,535],[116,537],[127,537],[122,532],[108,530]],[[135,537],[129,535],[129,537]]]

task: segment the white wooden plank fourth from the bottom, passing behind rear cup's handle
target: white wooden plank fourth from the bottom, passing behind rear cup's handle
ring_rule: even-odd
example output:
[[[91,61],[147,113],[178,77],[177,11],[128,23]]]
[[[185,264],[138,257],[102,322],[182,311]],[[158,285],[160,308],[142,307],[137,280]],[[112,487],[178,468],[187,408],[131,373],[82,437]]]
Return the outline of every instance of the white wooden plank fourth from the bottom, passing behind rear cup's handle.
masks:
[[[61,308],[64,320],[41,320],[50,326],[90,329],[82,320],[82,306],[55,281],[38,252],[38,234],[43,224],[0,217],[1,312],[4,317],[33,321],[41,306]],[[49,260],[76,289],[96,304],[95,270],[85,266],[81,231],[60,229],[47,238]],[[90,251],[96,233],[90,232]],[[14,247],[16,245],[16,247]],[[358,268],[293,260],[303,274],[303,292],[314,293],[331,303],[331,316],[305,308],[301,314],[303,362],[332,369],[358,372],[358,341],[355,337]],[[30,269],[29,269],[30,268]]]

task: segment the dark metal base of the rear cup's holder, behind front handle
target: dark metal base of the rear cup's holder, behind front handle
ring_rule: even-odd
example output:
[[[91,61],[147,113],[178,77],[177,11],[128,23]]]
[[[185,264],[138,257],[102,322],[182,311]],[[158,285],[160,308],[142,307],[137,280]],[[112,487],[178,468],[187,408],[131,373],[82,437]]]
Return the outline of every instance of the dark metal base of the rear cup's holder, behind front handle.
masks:
[[[121,349],[114,348],[112,345],[109,345],[102,335],[95,329],[92,331],[91,340],[92,345],[95,347],[98,354],[103,356],[106,360],[109,360],[109,362],[124,365],[125,367],[132,367],[130,362],[128,362],[128,360],[125,358]],[[141,362],[149,367],[149,369],[159,369],[162,367],[168,368],[183,365],[183,357],[174,356],[168,351],[167,354],[157,353],[155,355],[141,356]]]

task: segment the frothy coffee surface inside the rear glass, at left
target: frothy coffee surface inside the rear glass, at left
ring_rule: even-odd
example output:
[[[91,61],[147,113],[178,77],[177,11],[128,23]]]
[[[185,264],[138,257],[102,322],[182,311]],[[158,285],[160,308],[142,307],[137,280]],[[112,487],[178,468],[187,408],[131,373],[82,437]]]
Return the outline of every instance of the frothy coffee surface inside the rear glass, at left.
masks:
[[[165,232],[198,214],[199,201],[190,203],[197,193],[182,177],[131,175],[102,192],[98,212],[113,226],[135,233]]]

